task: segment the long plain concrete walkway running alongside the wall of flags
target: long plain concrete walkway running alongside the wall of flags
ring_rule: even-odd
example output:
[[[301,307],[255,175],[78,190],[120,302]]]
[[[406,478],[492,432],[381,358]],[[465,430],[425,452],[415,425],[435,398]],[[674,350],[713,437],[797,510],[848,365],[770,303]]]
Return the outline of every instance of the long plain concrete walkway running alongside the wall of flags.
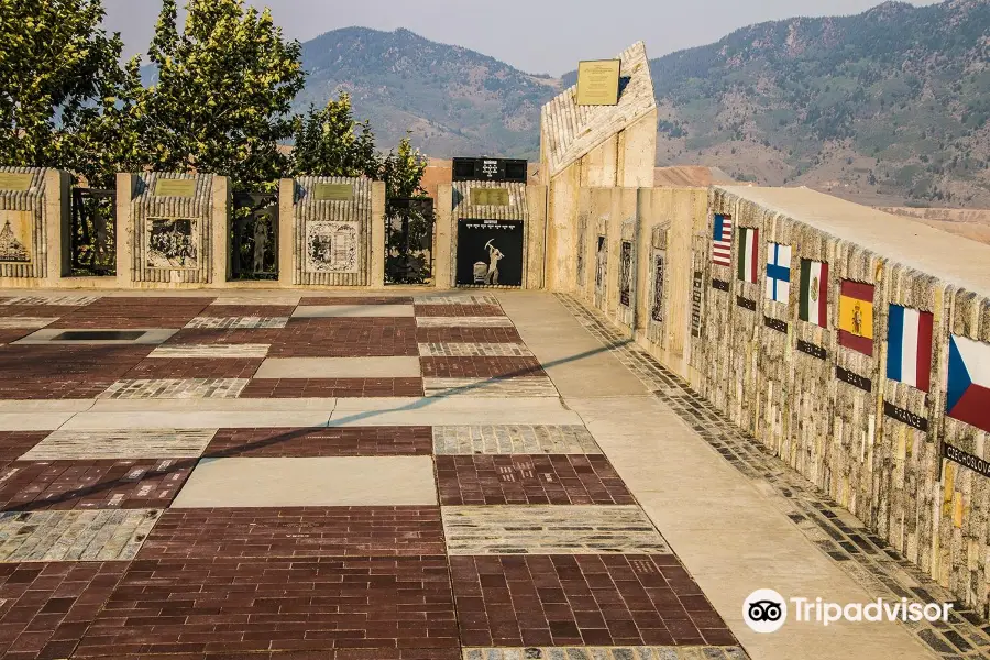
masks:
[[[934,658],[892,623],[788,624],[756,634],[743,620],[758,588],[784,597],[868,603],[871,597],[829,561],[771,497],[735,471],[559,302],[540,294],[499,296],[526,345],[578,413],[623,481],[755,659]],[[593,353],[593,354],[592,354]],[[569,355],[592,354],[568,361]]]

